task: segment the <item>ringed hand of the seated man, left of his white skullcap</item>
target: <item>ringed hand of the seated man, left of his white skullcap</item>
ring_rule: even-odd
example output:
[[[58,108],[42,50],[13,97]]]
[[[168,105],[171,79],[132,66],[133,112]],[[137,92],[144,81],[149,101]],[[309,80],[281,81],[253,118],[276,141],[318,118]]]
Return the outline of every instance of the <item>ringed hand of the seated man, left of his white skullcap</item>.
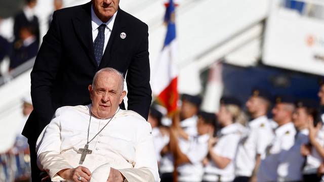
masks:
[[[76,168],[72,169],[62,169],[57,174],[64,179],[68,179],[74,182],[88,182],[91,178],[90,170],[84,166],[77,166]],[[78,180],[80,176],[81,180]]]

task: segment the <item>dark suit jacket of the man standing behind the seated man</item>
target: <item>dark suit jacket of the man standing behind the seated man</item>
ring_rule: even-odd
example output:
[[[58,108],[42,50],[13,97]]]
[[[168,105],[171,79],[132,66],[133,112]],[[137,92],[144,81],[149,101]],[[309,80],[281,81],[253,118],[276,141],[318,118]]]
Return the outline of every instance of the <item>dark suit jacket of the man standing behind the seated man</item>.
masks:
[[[121,32],[127,34],[125,39],[120,38]],[[124,75],[127,72],[128,109],[147,119],[152,99],[148,26],[118,9],[98,68],[92,40],[91,2],[54,12],[31,72],[34,111],[22,134],[35,141],[57,108],[91,103],[88,85],[104,67],[115,68]]]

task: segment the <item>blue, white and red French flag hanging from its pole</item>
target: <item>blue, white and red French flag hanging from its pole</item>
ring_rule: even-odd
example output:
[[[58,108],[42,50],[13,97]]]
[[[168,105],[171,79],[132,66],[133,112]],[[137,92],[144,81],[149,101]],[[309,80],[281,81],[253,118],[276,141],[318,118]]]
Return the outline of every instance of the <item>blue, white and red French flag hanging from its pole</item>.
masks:
[[[164,47],[154,67],[152,92],[159,104],[167,108],[168,114],[174,113],[178,106],[178,68],[177,39],[175,25],[175,5],[173,0],[167,5],[165,23],[168,25]]]

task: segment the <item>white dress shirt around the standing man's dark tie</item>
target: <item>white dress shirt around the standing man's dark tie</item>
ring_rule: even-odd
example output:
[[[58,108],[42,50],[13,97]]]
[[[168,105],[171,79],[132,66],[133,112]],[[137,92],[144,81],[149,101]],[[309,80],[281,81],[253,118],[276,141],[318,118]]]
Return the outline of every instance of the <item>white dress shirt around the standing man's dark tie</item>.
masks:
[[[105,43],[104,43],[102,54],[104,54],[104,52],[106,50],[107,43],[108,43],[112,28],[113,28],[113,24],[115,22],[116,15],[117,15],[117,11],[113,14],[113,16],[107,22],[104,23],[97,17],[97,15],[95,14],[95,12],[93,10],[93,7],[91,5],[91,25],[92,25],[92,41],[93,42],[95,41],[95,39],[96,39],[96,37],[98,35],[98,27],[101,24],[106,25],[106,28],[105,28]]]

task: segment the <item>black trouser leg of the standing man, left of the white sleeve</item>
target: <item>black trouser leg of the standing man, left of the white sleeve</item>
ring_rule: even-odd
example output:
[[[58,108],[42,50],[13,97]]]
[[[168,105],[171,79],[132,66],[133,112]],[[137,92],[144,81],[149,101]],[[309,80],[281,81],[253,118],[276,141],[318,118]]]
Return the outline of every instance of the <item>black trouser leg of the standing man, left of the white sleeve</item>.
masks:
[[[29,151],[30,151],[30,167],[31,167],[31,181],[39,182],[41,181],[41,170],[37,167],[37,154],[36,154],[36,142],[29,141]]]

